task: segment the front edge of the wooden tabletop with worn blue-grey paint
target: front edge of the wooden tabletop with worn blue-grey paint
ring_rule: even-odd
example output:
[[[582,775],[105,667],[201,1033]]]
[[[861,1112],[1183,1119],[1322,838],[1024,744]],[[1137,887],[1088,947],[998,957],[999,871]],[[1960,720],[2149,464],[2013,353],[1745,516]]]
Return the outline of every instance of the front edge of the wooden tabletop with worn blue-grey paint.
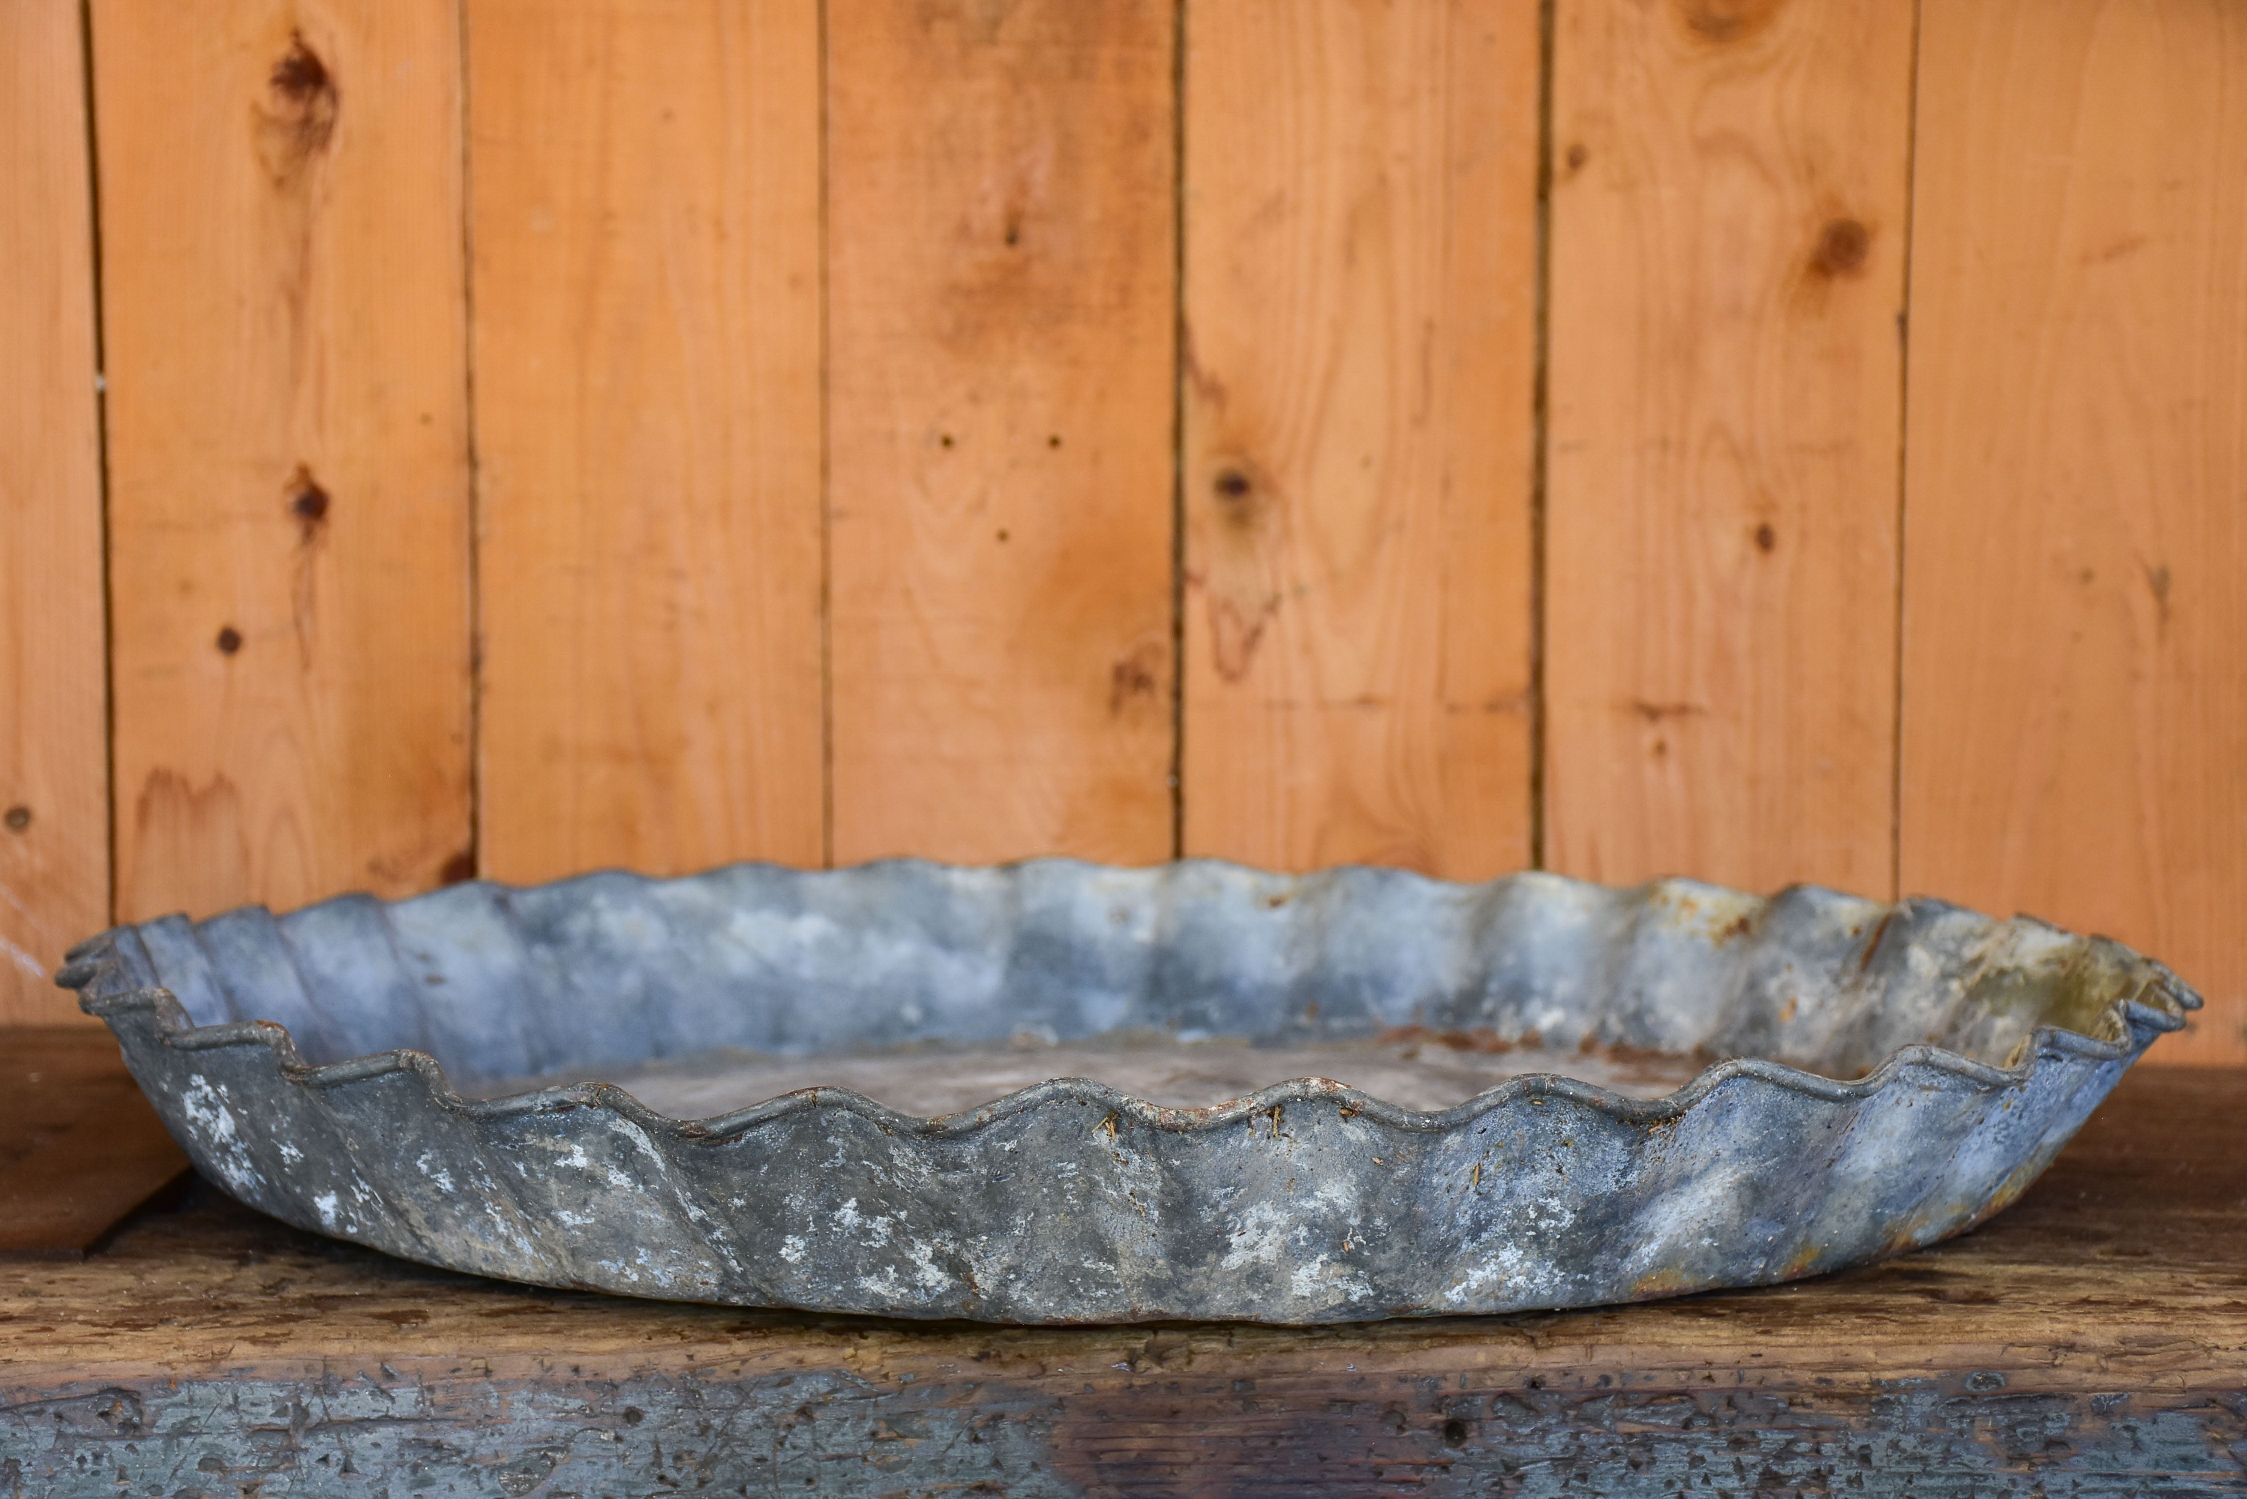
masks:
[[[346,1366],[348,1369],[348,1366]],[[142,1380],[13,1391],[7,1499],[452,1495],[2081,1495],[2247,1492],[2247,1396],[1357,1380]]]

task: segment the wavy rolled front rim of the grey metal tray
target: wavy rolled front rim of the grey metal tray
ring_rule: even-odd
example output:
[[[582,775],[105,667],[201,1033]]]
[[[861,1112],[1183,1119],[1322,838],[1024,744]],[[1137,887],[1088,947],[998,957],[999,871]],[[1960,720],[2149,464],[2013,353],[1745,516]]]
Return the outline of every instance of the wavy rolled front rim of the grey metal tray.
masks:
[[[1443,885],[1449,881],[1429,883]],[[1865,1076],[1847,1081],[1804,1072],[1802,1068],[1780,1061],[1732,1056],[1710,1063],[1690,1083],[1661,1099],[1631,1099],[1609,1092],[1595,1083],[1584,1083],[1555,1072],[1528,1072],[1505,1079],[1494,1088],[1485,1088],[1465,1103],[1427,1112],[1400,1108],[1346,1083],[1319,1076],[1272,1083],[1270,1088],[1261,1088],[1247,1097],[1227,1099],[1207,1108],[1168,1108],[1162,1103],[1148,1103],[1146,1099],[1135,1099],[1110,1088],[1108,1083],[1063,1076],[1031,1083],[1029,1088],[1020,1088],[973,1110],[935,1117],[899,1112],[861,1092],[852,1092],[849,1088],[800,1088],[726,1115],[712,1115],[708,1119],[674,1119],[672,1115],[647,1108],[616,1083],[562,1083],[501,1099],[467,1099],[454,1090],[452,1081],[445,1076],[443,1063],[438,1063],[438,1059],[429,1052],[375,1052],[369,1056],[353,1056],[348,1061],[312,1065],[303,1061],[303,1054],[297,1050],[297,1041],[290,1036],[288,1027],[274,1020],[193,1025],[171,989],[124,989],[117,993],[103,993],[103,978],[121,975],[124,964],[117,957],[119,930],[126,928],[101,933],[99,937],[90,937],[70,948],[70,962],[54,975],[54,982],[63,989],[79,989],[79,1009],[103,1020],[137,1011],[155,1014],[157,1036],[169,1050],[207,1052],[216,1047],[263,1045],[274,1054],[274,1065],[281,1079],[299,1088],[348,1088],[353,1083],[398,1072],[413,1072],[429,1088],[431,1099],[436,1099],[445,1110],[470,1119],[497,1121],[526,1115],[564,1112],[573,1108],[598,1108],[620,1115],[640,1128],[701,1144],[724,1144],[755,1130],[757,1126],[822,1108],[861,1115],[888,1133],[908,1133],[926,1139],[962,1139],[1002,1119],[1011,1119],[1047,1103],[1106,1108],[1117,1117],[1177,1135],[1227,1128],[1240,1124],[1243,1119],[1270,1115],[1274,1108],[1285,1108],[1288,1103],[1306,1099],[1326,1099],[1337,1103],[1350,1117],[1373,1119],[1393,1130],[1409,1133],[1454,1130],[1463,1124],[1472,1124],[1494,1108],[1503,1108],[1519,1097],[1568,1099],[1573,1103],[1598,1108],[1600,1112],[1607,1112],[1625,1124],[1661,1126],[1681,1119],[1701,1099],[1735,1079],[1784,1088],[1825,1103],[1867,1099],[1896,1083],[1903,1072],[1912,1068],[1948,1072],[1984,1090],[2018,1085],[2029,1079],[2038,1061],[2045,1056],[2074,1056],[2099,1063],[2135,1056],[2153,1043],[2153,1036],[2182,1029],[2184,1011],[2200,1009],[2202,1002],[2191,984],[2180,980],[2166,964],[2123,948],[2130,951],[2130,957],[2146,964],[2153,975],[2135,996],[2117,998],[2103,1011],[2114,1023],[2114,1032],[2123,1036],[2123,1041],[2101,1041],[2058,1025],[2038,1025],[2029,1034],[2027,1045],[2020,1052],[2020,1061],[2007,1068],[1993,1068],[1939,1045],[1914,1043],[1890,1052],[1887,1059]]]

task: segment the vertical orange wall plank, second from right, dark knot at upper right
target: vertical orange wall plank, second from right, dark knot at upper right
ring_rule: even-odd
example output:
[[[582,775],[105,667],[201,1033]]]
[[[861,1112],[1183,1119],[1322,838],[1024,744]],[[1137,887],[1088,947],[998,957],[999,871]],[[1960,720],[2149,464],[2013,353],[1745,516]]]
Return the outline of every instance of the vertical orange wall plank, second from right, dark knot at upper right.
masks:
[[[1546,850],[1885,894],[1912,7],[1559,0]]]

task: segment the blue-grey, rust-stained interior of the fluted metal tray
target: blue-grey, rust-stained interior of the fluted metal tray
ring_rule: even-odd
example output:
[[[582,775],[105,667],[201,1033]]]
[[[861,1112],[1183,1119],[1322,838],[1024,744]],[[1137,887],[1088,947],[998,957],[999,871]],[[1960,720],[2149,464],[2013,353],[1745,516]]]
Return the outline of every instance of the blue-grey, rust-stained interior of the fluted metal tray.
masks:
[[[917,861],[589,874],[130,928],[198,1025],[308,1063],[420,1050],[497,1097],[609,1081],[674,1117],[795,1088],[957,1112],[1052,1076],[1207,1106],[1328,1076],[1447,1108],[1521,1072],[1658,1097],[1708,1061],[1852,1079],[1903,1045],[2011,1065],[2038,1025],[2119,1038],[2150,964],[1939,901],[1550,874]]]

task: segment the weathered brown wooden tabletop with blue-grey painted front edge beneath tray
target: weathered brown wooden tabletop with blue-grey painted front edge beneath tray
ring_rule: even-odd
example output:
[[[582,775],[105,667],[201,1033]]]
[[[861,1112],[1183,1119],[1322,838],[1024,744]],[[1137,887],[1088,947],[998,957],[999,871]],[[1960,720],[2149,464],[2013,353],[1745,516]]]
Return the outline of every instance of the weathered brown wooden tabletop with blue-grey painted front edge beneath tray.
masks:
[[[993,1328],[533,1290],[207,1187],[0,1263],[0,1495],[2247,1492],[2247,1072],[1950,1245],[1755,1292]]]

